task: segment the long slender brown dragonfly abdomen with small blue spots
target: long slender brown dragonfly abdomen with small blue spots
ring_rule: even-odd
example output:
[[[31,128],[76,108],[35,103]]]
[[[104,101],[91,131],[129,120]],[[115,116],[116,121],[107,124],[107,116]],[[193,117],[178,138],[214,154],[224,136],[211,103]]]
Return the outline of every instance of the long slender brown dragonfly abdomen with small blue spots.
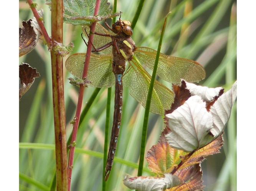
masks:
[[[109,176],[111,171],[116,147],[117,139],[120,132],[121,119],[122,119],[122,105],[123,105],[123,84],[122,84],[122,74],[116,74],[116,86],[115,86],[115,104],[114,104],[114,116],[113,116],[113,126],[111,131],[111,140],[109,144],[109,152],[107,154],[107,164],[105,168],[105,181]]]

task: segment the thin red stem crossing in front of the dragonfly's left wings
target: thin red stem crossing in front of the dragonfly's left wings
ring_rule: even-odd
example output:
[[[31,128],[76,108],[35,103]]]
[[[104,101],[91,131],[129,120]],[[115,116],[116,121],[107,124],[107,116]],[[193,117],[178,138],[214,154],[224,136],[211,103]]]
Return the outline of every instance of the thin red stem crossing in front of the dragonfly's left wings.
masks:
[[[101,0],[96,0],[94,16],[98,15],[100,4],[101,4]],[[90,27],[91,33],[89,34],[88,47],[87,47],[86,58],[85,58],[85,62],[84,62],[83,79],[87,78],[87,74],[88,74],[88,67],[89,67],[91,51],[92,51],[91,42],[93,42],[93,34],[92,33],[94,33],[95,28],[96,28],[96,22],[92,23],[92,25]],[[70,149],[69,149],[68,191],[70,191],[70,188],[71,188],[71,176],[72,176],[72,169],[73,169],[73,162],[74,162],[74,151],[75,151],[75,146],[76,146],[76,136],[77,136],[77,132],[78,132],[81,108],[82,108],[82,104],[83,104],[84,88],[85,88],[85,86],[83,84],[81,84],[80,88],[79,88],[78,104],[77,104],[77,108],[76,108],[75,122],[74,122],[74,126],[73,126],[72,139],[71,139],[71,144],[70,144]]]

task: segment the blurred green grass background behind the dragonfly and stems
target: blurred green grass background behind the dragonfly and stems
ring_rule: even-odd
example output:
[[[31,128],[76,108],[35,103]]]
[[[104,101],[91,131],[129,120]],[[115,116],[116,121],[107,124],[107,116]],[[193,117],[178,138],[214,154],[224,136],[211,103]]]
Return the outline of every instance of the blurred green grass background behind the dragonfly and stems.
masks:
[[[34,1],[43,8],[46,30],[51,32],[51,12],[45,1]],[[113,0],[109,0],[111,8]],[[139,0],[118,0],[117,11],[122,19],[132,20]],[[226,90],[236,80],[236,1],[234,0],[147,0],[145,1],[132,38],[137,46],[157,49],[165,15],[168,19],[161,52],[167,55],[196,60],[205,67],[206,79],[199,84],[223,86]],[[25,1],[20,1],[21,21],[32,18]],[[81,39],[81,27],[64,23],[64,45],[74,43],[72,53],[86,52]],[[68,57],[68,56],[67,56]],[[64,57],[66,60],[67,57]],[[55,175],[53,106],[51,94],[50,52],[39,41],[36,48],[20,58],[37,68],[41,77],[20,100],[20,190],[48,190]],[[78,88],[68,83],[73,77],[64,68],[67,136],[78,99]],[[167,87],[170,83],[161,81]],[[86,88],[84,106],[94,88]],[[112,88],[111,122],[114,108]],[[106,118],[107,89],[101,89],[79,130],[71,190],[101,190],[102,159]],[[144,108],[124,89],[122,127],[116,157],[138,163]],[[111,127],[111,126],[110,126]],[[146,151],[157,143],[164,128],[162,117],[150,113]],[[110,130],[110,129],[109,129]],[[110,136],[110,132],[109,132]],[[203,181],[207,191],[236,190],[236,104],[225,129],[221,154],[215,154],[202,163]],[[38,144],[32,144],[38,143]],[[91,152],[97,151],[97,152]],[[147,167],[147,162],[144,163]],[[129,190],[122,179],[135,176],[137,169],[124,162],[114,162],[107,191]],[[144,175],[149,175],[144,172]]]

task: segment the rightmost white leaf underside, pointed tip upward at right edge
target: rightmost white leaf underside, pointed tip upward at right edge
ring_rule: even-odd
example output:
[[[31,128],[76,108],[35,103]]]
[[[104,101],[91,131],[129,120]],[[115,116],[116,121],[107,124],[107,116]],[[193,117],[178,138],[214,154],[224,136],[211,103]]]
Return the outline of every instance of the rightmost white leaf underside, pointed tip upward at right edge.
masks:
[[[211,106],[210,113],[213,116],[213,128],[211,133],[217,137],[223,131],[228,119],[230,118],[231,108],[236,100],[236,82],[232,88],[221,95]]]

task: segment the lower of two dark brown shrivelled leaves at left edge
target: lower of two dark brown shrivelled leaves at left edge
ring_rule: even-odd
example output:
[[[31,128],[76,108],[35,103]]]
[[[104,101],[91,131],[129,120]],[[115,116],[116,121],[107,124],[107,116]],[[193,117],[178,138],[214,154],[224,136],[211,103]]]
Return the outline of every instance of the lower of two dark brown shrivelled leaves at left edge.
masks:
[[[23,94],[30,89],[31,85],[34,83],[35,78],[38,78],[40,74],[37,72],[36,68],[32,68],[29,64],[23,63],[19,66],[19,76],[20,76],[20,98]]]

